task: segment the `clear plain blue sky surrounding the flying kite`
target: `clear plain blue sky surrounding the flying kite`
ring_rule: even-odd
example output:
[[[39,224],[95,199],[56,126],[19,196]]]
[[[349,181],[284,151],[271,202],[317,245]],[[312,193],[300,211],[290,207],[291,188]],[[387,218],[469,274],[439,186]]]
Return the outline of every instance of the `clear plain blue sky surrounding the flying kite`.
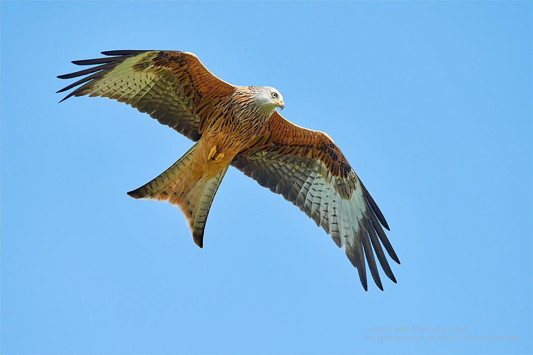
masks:
[[[531,2],[0,6],[2,353],[532,352]],[[204,249],[179,209],[128,197],[192,142],[107,98],[58,104],[70,61],[113,49],[276,87],[383,211],[398,284],[365,292],[234,168]]]

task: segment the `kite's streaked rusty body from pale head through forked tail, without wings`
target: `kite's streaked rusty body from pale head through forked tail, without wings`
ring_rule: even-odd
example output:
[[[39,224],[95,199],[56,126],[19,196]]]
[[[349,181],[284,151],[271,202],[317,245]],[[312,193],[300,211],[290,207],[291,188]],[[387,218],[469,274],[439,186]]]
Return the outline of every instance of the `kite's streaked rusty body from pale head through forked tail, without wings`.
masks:
[[[202,247],[207,213],[225,171],[239,152],[246,151],[264,135],[266,122],[275,111],[276,106],[261,104],[262,94],[270,95],[270,90],[236,87],[231,97],[219,101],[213,111],[216,115],[211,117],[198,142],[176,162],[181,168],[176,170],[174,164],[172,177],[166,172],[163,178],[156,178],[128,195],[179,205],[195,243]],[[204,204],[201,203],[203,197]]]

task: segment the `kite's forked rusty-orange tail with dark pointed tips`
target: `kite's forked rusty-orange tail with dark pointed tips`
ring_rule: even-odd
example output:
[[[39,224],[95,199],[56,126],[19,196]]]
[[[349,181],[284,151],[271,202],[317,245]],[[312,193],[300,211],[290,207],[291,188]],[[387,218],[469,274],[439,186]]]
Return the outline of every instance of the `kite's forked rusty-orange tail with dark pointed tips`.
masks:
[[[228,166],[208,180],[195,176],[191,165],[196,146],[197,144],[193,145],[163,174],[128,192],[128,195],[134,199],[168,201],[179,205],[189,224],[193,240],[196,245],[203,247],[207,214]]]

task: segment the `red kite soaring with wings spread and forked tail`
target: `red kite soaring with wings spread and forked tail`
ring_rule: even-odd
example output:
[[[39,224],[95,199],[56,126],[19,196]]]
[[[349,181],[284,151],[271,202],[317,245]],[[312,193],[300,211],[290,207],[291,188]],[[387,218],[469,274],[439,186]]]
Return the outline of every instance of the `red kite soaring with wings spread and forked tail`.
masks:
[[[196,142],[170,168],[128,195],[178,205],[193,240],[202,247],[209,208],[231,165],[283,195],[324,228],[338,247],[344,247],[365,290],[366,257],[370,274],[383,291],[374,252],[385,275],[396,282],[382,249],[383,245],[400,263],[383,232],[382,226],[389,229],[385,217],[326,133],[281,117],[276,108],[283,109],[285,102],[278,90],[228,84],[188,52],[102,54],[108,57],[72,62],[96,66],[58,77],[87,75],[58,91],[75,88],[63,100],[109,97]]]

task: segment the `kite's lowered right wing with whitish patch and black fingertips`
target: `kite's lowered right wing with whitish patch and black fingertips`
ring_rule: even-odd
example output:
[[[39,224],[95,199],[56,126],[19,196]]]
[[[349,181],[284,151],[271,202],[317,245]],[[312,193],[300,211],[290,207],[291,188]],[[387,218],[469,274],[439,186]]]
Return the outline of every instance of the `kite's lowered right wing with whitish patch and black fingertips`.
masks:
[[[385,275],[396,282],[381,246],[400,263],[381,225],[389,226],[332,139],[294,125],[277,111],[266,129],[255,144],[235,156],[232,166],[283,195],[324,228],[338,247],[344,246],[365,290],[365,256],[374,282],[383,290],[372,246]]]

